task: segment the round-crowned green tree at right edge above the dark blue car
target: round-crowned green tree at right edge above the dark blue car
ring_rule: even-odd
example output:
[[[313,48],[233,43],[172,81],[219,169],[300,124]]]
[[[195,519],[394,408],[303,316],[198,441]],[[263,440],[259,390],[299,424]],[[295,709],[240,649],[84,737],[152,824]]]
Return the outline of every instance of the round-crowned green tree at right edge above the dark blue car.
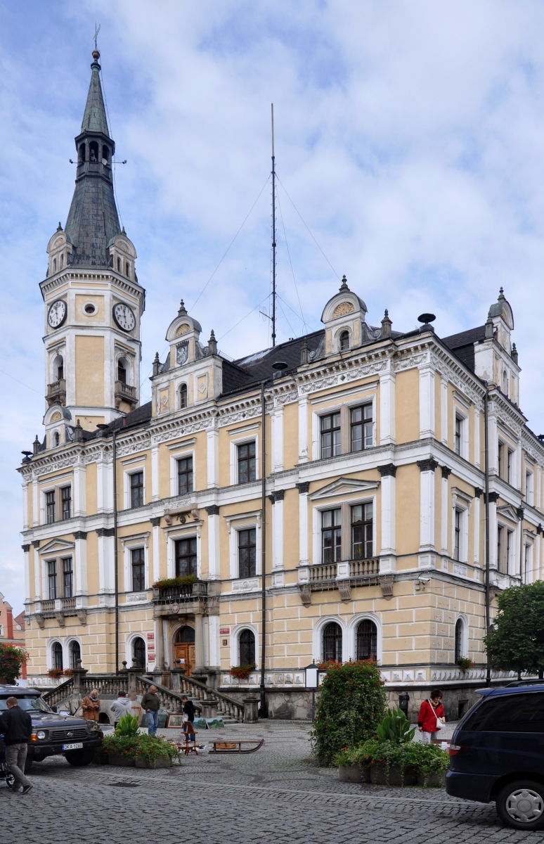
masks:
[[[544,582],[505,589],[484,637],[492,668],[544,674]]]

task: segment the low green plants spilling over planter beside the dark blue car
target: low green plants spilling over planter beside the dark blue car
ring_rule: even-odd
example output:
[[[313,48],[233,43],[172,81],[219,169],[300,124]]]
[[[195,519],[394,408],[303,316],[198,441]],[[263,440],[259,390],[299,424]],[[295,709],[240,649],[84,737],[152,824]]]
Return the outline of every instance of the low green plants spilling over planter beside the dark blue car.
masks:
[[[412,741],[399,744],[369,738],[357,747],[342,750],[335,756],[334,764],[342,767],[359,765],[362,768],[376,765],[385,767],[388,771],[390,768],[397,768],[403,774],[406,771],[415,771],[424,775],[426,786],[429,776],[448,770],[450,755],[436,744]]]

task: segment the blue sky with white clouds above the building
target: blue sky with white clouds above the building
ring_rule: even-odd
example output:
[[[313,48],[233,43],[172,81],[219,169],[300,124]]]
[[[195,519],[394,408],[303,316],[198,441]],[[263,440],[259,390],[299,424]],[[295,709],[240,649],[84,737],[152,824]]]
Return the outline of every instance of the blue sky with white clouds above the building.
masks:
[[[482,325],[503,286],[520,405],[544,430],[542,0],[3,0],[0,592],[16,613],[16,468],[45,410],[38,285],[72,198],[96,24],[147,290],[142,401],[180,298],[225,355],[270,344],[273,102],[278,342],[320,327],[344,273],[370,324],[388,308],[408,331],[432,311],[442,337]]]

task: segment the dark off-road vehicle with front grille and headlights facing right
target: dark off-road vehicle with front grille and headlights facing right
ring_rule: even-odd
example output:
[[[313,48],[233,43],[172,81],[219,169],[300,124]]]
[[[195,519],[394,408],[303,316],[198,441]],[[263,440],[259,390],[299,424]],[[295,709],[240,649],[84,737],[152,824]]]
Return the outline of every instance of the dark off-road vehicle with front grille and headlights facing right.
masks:
[[[95,721],[85,721],[72,715],[57,715],[39,691],[20,686],[0,686],[0,712],[8,709],[8,697],[16,697],[19,706],[32,718],[32,735],[26,757],[25,773],[32,762],[41,762],[46,756],[62,755],[70,765],[89,765],[94,749],[102,744],[102,733]]]

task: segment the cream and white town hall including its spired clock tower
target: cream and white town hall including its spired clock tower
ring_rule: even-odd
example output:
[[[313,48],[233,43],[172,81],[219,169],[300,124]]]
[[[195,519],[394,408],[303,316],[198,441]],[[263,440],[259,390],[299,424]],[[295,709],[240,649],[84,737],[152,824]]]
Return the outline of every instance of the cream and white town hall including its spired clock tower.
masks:
[[[343,279],[320,331],[234,362],[181,302],[140,405],[145,296],[98,58],[40,284],[45,436],[19,468],[29,674],[134,660],[168,685],[180,660],[231,697],[262,679],[273,717],[302,717],[304,666],[370,658],[391,701],[438,684],[457,717],[485,678],[487,602],[542,570],[544,445],[503,291],[439,338],[432,315],[370,325]],[[230,667],[253,664],[240,689]]]

